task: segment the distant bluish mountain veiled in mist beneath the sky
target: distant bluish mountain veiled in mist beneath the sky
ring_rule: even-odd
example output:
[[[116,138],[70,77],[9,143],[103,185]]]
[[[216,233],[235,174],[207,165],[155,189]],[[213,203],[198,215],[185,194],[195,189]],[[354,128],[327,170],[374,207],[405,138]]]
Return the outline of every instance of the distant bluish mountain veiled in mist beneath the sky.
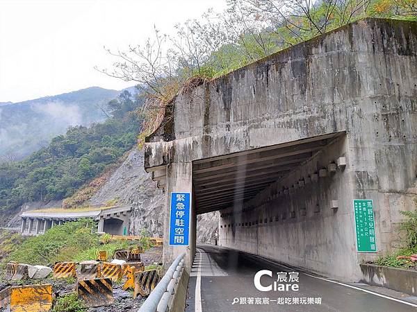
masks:
[[[134,92],[134,87],[127,88]],[[0,161],[18,160],[47,146],[70,126],[108,118],[107,103],[121,91],[89,87],[19,103],[0,103]]]

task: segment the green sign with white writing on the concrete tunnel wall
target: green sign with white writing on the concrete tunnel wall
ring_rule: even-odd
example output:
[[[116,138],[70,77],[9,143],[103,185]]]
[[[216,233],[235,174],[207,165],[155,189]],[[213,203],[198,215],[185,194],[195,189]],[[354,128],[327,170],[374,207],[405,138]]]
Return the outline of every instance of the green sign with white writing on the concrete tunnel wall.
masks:
[[[358,252],[377,252],[375,219],[372,200],[354,200],[354,223],[357,233]]]

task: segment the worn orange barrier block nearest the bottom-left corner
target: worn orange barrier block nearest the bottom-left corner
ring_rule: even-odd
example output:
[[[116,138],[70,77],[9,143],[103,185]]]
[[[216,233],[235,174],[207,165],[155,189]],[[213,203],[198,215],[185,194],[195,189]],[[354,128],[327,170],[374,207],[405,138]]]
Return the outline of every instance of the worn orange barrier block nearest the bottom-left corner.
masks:
[[[52,309],[52,285],[13,286],[10,312],[48,312]]]

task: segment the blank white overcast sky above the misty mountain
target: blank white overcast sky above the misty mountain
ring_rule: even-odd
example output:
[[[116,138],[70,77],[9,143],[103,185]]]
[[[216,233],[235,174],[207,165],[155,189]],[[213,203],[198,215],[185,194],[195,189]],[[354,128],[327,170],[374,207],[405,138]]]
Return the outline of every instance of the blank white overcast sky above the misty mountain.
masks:
[[[124,50],[224,0],[0,0],[0,102],[99,86],[134,85],[93,67],[110,67],[103,49]]]

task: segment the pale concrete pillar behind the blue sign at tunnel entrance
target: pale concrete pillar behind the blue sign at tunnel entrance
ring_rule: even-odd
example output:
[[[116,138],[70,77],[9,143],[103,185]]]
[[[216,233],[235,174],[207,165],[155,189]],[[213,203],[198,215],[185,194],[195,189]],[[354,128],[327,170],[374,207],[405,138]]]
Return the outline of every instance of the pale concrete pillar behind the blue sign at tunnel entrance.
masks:
[[[171,192],[188,192],[193,194],[193,164],[186,163],[172,163],[169,170],[167,170],[167,189],[165,192],[165,220],[164,220],[164,235],[163,235],[163,268],[167,270],[172,261],[181,254],[186,252],[186,269],[188,272],[193,265],[195,254],[195,222],[194,218],[193,196],[191,196],[190,207],[190,236],[188,246],[170,246],[170,209],[171,209]]]

